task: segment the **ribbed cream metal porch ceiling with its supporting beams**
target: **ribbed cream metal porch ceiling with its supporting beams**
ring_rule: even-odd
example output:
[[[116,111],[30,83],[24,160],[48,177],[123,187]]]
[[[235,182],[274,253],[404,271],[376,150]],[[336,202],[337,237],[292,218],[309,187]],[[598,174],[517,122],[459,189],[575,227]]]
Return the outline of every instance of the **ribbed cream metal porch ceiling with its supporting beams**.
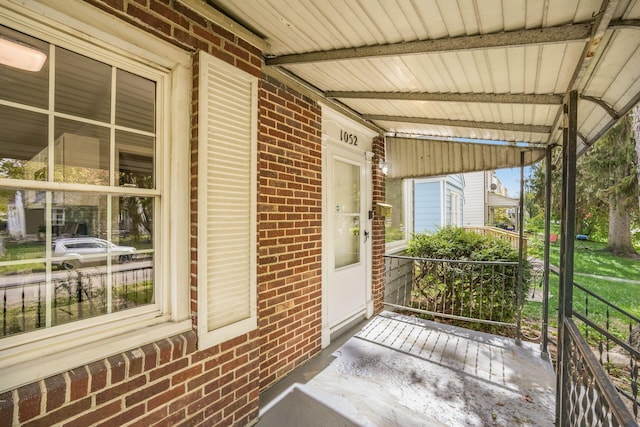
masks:
[[[640,100],[638,0],[206,3],[267,43],[267,72],[386,135],[561,144],[577,90],[582,151]]]

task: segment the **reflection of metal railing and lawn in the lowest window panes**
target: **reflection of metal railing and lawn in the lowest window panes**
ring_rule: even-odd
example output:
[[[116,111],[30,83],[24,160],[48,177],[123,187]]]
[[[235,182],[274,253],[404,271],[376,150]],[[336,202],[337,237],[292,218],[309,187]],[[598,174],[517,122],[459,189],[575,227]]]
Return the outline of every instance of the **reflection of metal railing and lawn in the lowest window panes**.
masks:
[[[16,280],[0,286],[0,298],[2,338],[149,304],[153,267],[58,272],[49,285],[45,280]]]

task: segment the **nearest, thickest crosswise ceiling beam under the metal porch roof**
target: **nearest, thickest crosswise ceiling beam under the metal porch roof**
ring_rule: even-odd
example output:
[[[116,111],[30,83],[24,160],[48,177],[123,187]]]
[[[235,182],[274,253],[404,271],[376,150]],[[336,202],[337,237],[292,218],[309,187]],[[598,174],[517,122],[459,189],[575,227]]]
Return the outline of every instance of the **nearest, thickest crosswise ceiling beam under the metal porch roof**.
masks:
[[[337,61],[356,58],[413,55],[420,53],[451,52],[456,50],[488,49],[532,44],[548,44],[568,41],[586,41],[592,25],[570,24],[530,30],[507,31],[474,36],[461,36],[435,40],[362,46],[307,52],[266,58],[266,65],[301,64],[309,62]]]

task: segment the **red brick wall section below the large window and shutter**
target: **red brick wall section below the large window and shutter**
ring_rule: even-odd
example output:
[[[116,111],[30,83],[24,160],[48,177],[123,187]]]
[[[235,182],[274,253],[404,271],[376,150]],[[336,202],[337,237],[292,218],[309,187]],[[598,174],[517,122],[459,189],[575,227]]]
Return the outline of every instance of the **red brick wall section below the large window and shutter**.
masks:
[[[0,395],[0,426],[246,425],[258,352],[257,332],[206,351],[167,338]]]

